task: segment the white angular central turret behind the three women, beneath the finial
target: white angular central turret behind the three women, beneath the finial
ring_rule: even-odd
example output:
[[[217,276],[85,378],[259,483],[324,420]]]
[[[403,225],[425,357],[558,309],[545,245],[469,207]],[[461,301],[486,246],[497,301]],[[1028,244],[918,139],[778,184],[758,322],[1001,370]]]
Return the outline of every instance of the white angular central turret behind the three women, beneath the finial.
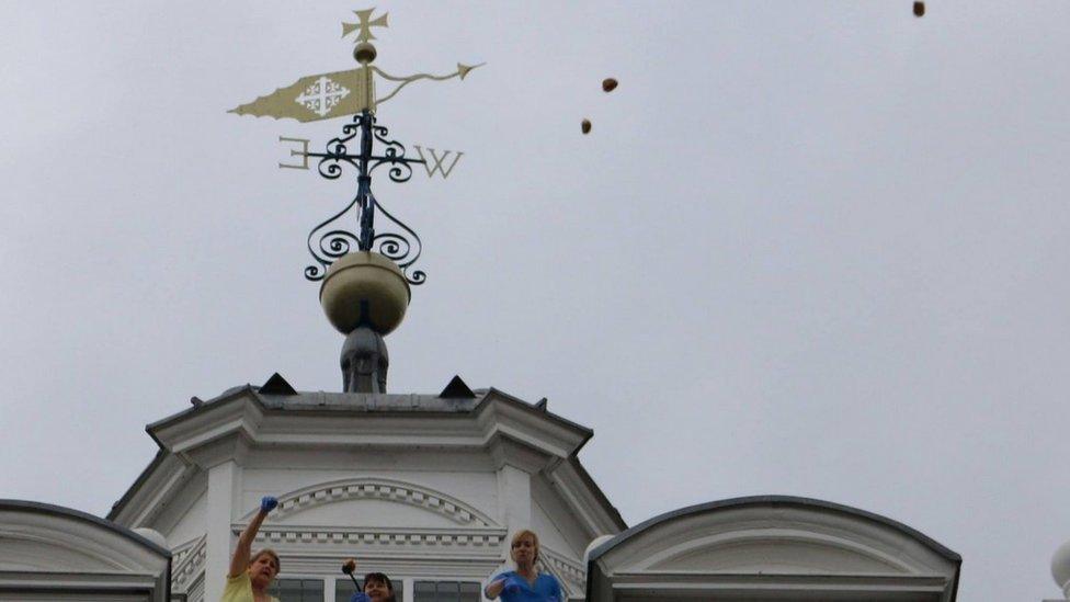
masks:
[[[280,506],[254,548],[280,554],[286,600],[346,600],[351,556],[357,573],[389,575],[400,600],[481,600],[521,529],[583,599],[584,549],[626,529],[577,459],[592,432],[458,383],[441,396],[298,394],[276,375],[195,401],[148,427],[160,451],[109,519],[163,535],[172,591],[190,602],[218,600],[237,535],[269,495]]]

